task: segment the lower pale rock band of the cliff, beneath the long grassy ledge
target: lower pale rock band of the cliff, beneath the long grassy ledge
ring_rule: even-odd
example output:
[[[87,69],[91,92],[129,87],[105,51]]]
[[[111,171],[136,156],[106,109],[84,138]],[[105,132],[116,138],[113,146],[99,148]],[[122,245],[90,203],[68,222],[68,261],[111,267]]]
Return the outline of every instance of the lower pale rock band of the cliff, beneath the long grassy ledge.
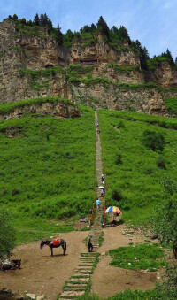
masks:
[[[112,84],[97,83],[92,87],[81,83],[73,87],[73,95],[85,102],[111,110],[128,110],[168,116],[163,96],[158,88],[117,88]]]

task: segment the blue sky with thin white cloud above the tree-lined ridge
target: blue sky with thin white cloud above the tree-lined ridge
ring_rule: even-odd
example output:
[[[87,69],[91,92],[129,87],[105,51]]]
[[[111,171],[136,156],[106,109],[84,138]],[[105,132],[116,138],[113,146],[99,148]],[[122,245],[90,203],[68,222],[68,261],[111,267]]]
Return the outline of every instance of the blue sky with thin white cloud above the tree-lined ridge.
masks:
[[[0,7],[0,21],[14,13],[33,20],[36,12],[46,12],[63,33],[96,24],[103,16],[110,28],[125,26],[150,58],[167,48],[177,57],[177,0],[0,0]]]

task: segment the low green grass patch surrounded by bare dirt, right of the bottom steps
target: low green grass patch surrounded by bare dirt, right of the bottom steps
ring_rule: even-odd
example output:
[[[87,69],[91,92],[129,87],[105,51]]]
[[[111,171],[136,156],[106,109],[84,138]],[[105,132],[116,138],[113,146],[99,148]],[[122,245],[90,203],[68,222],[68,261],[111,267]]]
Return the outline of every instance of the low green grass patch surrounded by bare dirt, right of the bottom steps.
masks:
[[[111,265],[129,270],[157,271],[166,265],[164,251],[158,244],[144,243],[110,250]]]

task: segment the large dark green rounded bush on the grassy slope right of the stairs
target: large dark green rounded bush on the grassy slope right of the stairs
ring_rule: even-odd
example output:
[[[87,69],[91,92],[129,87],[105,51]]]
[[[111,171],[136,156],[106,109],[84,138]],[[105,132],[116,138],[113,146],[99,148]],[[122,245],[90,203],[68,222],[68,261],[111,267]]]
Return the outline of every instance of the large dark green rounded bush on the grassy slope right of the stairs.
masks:
[[[165,137],[162,133],[145,130],[142,137],[143,144],[153,151],[163,151],[165,148]]]

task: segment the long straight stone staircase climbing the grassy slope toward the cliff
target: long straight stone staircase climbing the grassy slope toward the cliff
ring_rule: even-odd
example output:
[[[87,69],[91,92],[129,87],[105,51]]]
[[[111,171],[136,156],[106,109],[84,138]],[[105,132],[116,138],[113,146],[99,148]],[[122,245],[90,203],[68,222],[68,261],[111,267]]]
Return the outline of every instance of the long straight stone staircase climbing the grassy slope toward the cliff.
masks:
[[[95,113],[97,120],[97,113]],[[97,134],[96,128],[96,176],[98,186],[101,185],[102,176],[102,151],[100,136]],[[97,195],[100,196],[100,188],[97,187]],[[88,251],[88,247],[84,253],[80,254],[80,263],[74,270],[73,276],[65,284],[64,291],[60,295],[60,299],[75,299],[85,294],[89,290],[90,274],[93,273],[96,263],[99,260],[99,237],[102,233],[101,218],[103,214],[104,204],[101,201],[100,211],[96,212],[94,224],[91,227],[90,234],[92,235],[93,252]]]

